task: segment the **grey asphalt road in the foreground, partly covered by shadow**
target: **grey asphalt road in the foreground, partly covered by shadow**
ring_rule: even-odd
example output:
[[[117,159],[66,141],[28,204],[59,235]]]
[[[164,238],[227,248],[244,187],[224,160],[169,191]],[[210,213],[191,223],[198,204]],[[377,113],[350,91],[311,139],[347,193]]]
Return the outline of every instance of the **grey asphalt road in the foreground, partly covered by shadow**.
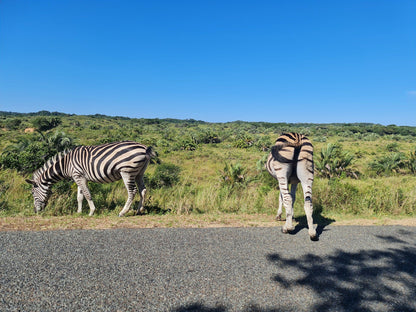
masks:
[[[416,311],[416,228],[0,232],[0,311]]]

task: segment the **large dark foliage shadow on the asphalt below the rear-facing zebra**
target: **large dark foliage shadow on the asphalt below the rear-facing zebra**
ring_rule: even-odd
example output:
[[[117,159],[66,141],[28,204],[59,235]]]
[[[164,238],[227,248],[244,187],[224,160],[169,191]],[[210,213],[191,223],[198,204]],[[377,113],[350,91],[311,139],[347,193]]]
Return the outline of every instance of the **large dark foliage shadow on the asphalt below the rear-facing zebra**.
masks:
[[[306,254],[299,259],[270,254],[267,258],[278,271],[300,272],[295,279],[279,273],[272,279],[287,291],[311,289],[320,302],[311,311],[416,311],[416,248],[400,237],[376,239],[391,247],[338,250],[327,257]]]

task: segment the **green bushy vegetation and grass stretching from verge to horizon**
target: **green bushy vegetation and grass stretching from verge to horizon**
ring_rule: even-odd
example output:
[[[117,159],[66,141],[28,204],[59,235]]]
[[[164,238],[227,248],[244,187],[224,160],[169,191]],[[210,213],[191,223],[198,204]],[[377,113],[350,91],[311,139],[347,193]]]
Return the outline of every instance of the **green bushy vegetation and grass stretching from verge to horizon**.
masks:
[[[120,140],[152,145],[158,152],[146,172],[149,213],[274,214],[278,186],[264,162],[274,140],[286,131],[303,133],[314,144],[313,201],[318,213],[416,212],[416,127],[207,123],[42,111],[0,112],[0,215],[33,214],[24,179],[54,154]],[[124,205],[122,182],[91,183],[90,188],[99,214],[115,215]],[[295,214],[301,215],[301,188],[298,192]],[[54,186],[44,214],[72,214],[76,206],[76,186],[62,181]]]

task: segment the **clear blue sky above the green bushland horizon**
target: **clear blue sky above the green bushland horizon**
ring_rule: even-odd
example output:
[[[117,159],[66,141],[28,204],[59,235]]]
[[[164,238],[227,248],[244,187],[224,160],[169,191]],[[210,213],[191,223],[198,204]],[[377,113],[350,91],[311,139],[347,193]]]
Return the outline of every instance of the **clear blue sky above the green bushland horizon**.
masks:
[[[0,1],[0,110],[416,126],[416,1]]]

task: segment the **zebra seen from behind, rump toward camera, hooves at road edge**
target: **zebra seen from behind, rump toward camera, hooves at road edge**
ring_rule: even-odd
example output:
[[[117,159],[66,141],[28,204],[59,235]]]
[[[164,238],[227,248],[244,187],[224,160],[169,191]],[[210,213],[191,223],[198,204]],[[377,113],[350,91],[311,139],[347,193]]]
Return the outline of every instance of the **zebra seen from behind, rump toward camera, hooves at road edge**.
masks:
[[[312,183],[313,183],[313,146],[311,141],[298,133],[285,133],[277,138],[266,162],[269,173],[279,181],[280,197],[277,219],[282,215],[282,203],[286,210],[286,223],[283,233],[294,230],[292,225],[293,204],[295,203],[296,188],[302,184],[304,194],[304,209],[308,220],[309,236],[317,239],[312,219]],[[289,192],[289,184],[292,184]]]

